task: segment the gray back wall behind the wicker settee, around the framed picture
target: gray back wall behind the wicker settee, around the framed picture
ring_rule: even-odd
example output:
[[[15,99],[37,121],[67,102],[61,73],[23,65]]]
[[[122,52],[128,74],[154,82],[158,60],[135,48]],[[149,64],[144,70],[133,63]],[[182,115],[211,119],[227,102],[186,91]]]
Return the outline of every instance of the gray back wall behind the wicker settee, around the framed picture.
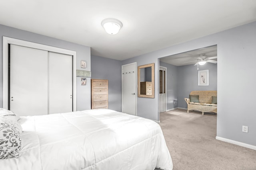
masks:
[[[188,108],[184,98],[194,90],[217,90],[217,64],[199,65],[199,70],[209,70],[209,86],[198,86],[197,66],[186,65],[178,67],[178,107]]]

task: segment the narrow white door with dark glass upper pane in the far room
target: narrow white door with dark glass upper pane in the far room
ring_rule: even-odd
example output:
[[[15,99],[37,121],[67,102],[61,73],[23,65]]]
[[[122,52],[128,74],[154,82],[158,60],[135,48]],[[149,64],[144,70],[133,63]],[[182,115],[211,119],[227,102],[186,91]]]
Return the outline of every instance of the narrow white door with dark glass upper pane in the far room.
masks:
[[[166,67],[159,68],[159,111],[166,111]]]

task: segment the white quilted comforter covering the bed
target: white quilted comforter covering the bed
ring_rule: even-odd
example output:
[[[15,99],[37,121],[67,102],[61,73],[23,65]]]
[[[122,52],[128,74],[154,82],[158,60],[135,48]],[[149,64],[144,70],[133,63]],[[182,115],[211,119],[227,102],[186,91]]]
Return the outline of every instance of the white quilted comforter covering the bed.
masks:
[[[160,126],[110,109],[21,117],[19,158],[1,170],[172,170]]]

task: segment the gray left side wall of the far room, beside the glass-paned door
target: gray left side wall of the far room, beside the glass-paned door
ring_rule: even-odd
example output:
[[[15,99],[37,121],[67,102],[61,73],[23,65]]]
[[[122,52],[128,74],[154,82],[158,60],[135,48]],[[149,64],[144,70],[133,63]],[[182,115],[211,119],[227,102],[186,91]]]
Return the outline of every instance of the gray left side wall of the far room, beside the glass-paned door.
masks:
[[[166,67],[166,105],[167,110],[178,107],[178,66],[160,62],[160,66]]]

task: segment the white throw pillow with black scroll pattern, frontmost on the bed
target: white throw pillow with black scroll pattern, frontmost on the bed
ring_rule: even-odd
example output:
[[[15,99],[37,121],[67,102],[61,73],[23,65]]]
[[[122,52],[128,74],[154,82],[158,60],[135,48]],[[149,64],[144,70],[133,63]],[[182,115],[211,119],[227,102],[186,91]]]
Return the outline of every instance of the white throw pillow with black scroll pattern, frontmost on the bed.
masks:
[[[19,157],[21,133],[19,123],[0,116],[0,159]]]

